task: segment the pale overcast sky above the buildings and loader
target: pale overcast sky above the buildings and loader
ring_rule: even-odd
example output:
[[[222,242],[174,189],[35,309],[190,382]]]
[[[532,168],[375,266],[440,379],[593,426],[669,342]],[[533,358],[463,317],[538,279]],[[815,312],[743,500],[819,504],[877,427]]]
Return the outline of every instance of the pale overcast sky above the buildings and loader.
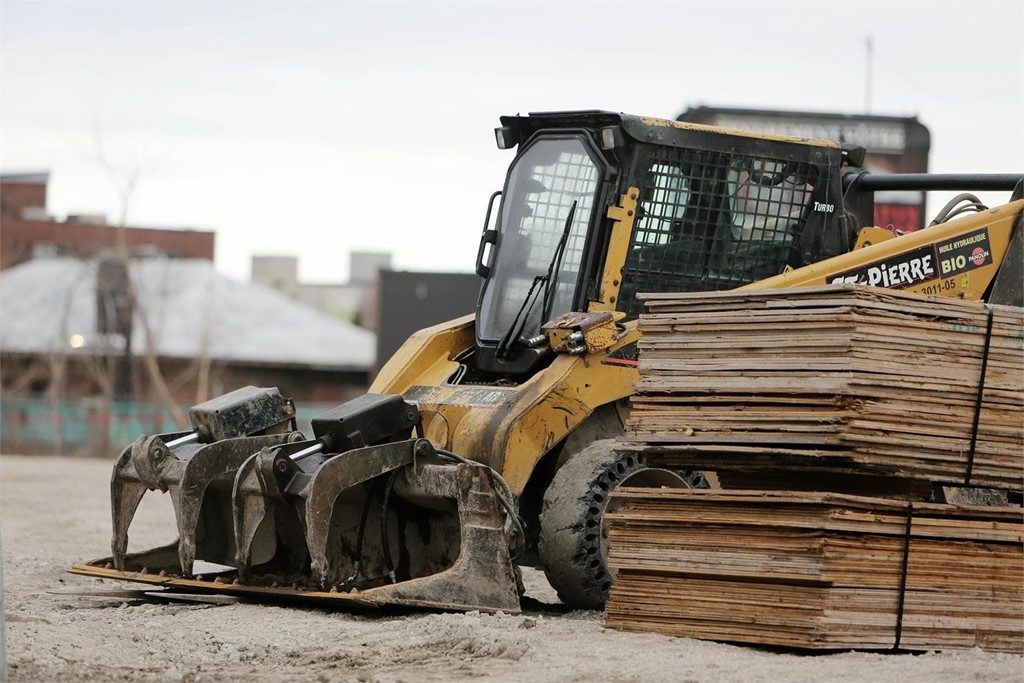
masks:
[[[499,116],[918,116],[931,169],[1024,169],[1024,2],[0,0],[0,169],[49,210],[216,230],[216,263],[471,270]]]

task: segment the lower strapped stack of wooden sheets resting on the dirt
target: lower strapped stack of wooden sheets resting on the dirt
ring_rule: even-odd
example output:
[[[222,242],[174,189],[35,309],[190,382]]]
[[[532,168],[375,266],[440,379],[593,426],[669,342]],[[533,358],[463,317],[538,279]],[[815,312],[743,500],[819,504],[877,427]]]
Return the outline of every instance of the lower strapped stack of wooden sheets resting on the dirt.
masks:
[[[1024,650],[1020,508],[626,488],[606,626],[811,649]]]

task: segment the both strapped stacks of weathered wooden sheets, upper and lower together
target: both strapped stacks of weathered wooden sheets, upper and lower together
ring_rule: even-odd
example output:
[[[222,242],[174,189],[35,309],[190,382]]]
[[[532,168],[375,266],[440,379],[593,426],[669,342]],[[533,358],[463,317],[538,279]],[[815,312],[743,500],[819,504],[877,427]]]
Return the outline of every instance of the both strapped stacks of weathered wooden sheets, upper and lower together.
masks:
[[[854,286],[645,299],[623,447],[803,493],[616,493],[607,626],[1024,651],[1022,509],[892,498],[1024,487],[1024,311]],[[864,495],[810,493],[838,490]]]

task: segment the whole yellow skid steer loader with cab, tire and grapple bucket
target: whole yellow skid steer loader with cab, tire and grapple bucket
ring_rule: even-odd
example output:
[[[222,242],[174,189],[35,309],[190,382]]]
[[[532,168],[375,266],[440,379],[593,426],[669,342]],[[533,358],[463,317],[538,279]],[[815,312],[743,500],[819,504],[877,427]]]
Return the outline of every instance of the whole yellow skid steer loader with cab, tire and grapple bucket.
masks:
[[[496,139],[515,156],[479,233],[475,314],[414,334],[312,434],[278,390],[249,387],[194,408],[191,432],[140,437],[112,479],[112,557],[73,570],[516,611],[517,566],[534,565],[566,604],[600,607],[614,490],[714,480],[617,447],[639,294],[855,282],[1021,296],[1020,174],[845,175],[863,151],[608,112],[504,117]],[[1015,185],[1005,206],[964,195],[910,234],[870,225],[879,189]],[[943,272],[964,245],[985,257]],[[147,490],[172,497],[179,539],[130,554]]]

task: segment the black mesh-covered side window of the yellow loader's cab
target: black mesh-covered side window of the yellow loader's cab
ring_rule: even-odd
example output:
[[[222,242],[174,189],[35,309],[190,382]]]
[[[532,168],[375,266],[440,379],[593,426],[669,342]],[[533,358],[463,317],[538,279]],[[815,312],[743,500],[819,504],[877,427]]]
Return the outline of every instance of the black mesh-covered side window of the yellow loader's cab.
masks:
[[[639,174],[620,310],[643,312],[637,295],[644,292],[728,290],[782,271],[809,215],[816,169],[726,153],[650,152]]]

